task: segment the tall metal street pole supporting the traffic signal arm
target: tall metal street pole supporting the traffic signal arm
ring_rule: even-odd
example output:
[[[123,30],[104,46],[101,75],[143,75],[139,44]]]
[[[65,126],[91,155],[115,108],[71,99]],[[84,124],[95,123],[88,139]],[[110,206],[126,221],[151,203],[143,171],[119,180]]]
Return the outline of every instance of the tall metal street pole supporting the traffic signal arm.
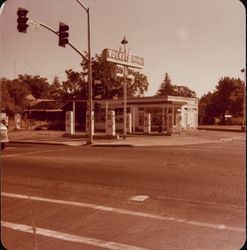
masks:
[[[90,11],[89,8],[86,8],[79,0],[76,0],[77,3],[86,11],[87,13],[87,36],[88,36],[88,103],[89,103],[89,133],[87,144],[93,144],[93,131],[92,131],[92,122],[93,122],[93,98],[92,98],[92,62],[91,62],[91,42],[90,42]]]

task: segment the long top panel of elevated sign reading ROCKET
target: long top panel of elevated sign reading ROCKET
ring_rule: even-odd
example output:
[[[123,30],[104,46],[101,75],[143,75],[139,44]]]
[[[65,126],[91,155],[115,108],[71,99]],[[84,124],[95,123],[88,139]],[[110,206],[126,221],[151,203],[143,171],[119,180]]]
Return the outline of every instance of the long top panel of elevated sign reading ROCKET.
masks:
[[[124,53],[113,49],[104,49],[102,55],[108,62],[138,69],[144,67],[144,58],[130,53]]]

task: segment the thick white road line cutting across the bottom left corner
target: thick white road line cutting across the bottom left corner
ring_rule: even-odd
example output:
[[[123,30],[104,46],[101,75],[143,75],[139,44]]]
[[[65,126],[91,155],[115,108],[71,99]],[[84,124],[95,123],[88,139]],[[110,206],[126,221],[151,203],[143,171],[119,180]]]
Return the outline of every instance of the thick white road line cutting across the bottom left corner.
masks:
[[[31,226],[28,226],[25,224],[17,224],[17,223],[2,221],[1,225],[3,227],[7,227],[7,228],[10,228],[13,230],[17,230],[17,231],[21,231],[21,232],[25,232],[25,233],[33,233],[33,228]],[[136,247],[136,246],[127,245],[127,244],[121,244],[121,243],[117,243],[117,242],[113,242],[113,241],[104,241],[104,240],[99,240],[99,239],[95,239],[95,238],[77,236],[77,235],[62,233],[62,232],[58,232],[58,231],[54,231],[54,230],[50,230],[50,229],[45,229],[45,228],[36,228],[36,234],[42,235],[42,236],[47,236],[50,238],[59,239],[59,240],[64,240],[64,241],[71,241],[71,242],[76,242],[76,243],[81,243],[81,244],[86,244],[86,245],[91,245],[91,246],[96,246],[96,247],[102,247],[104,249],[147,250],[147,248],[141,248],[141,247]]]

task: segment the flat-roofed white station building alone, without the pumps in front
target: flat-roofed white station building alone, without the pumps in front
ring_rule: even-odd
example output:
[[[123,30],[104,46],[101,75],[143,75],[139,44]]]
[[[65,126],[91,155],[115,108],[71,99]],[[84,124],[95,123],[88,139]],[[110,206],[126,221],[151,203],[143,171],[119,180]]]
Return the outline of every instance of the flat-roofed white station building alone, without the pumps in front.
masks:
[[[115,111],[116,130],[123,130],[123,99],[94,100],[95,130],[105,130],[108,111]],[[144,132],[149,119],[150,132],[181,132],[197,129],[198,99],[179,96],[131,97],[127,99],[127,132]]]

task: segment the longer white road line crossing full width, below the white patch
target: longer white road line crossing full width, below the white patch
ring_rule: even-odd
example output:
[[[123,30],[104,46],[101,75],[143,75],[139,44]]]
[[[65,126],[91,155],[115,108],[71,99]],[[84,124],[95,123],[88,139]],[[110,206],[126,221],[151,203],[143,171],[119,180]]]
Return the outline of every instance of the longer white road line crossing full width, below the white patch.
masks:
[[[183,224],[194,225],[194,226],[199,226],[199,227],[207,227],[207,228],[213,228],[213,229],[218,229],[218,230],[228,230],[228,231],[245,233],[245,229],[239,228],[239,227],[230,227],[230,226],[226,226],[222,224],[213,224],[213,223],[206,223],[206,222],[191,221],[187,219],[179,219],[179,218],[168,217],[168,216],[159,216],[159,215],[154,215],[154,214],[135,212],[131,210],[125,210],[125,209],[119,209],[119,208],[113,208],[113,207],[105,207],[105,206],[94,205],[94,204],[89,204],[89,203],[55,200],[55,199],[42,198],[42,197],[37,197],[37,196],[28,196],[28,195],[5,193],[5,192],[2,192],[2,196],[17,198],[17,199],[30,199],[34,201],[50,202],[50,203],[69,205],[69,206],[77,206],[77,207],[90,208],[90,209],[101,210],[105,212],[111,212],[111,213],[138,216],[138,217],[163,220],[163,221],[172,221],[176,223],[183,223]]]

